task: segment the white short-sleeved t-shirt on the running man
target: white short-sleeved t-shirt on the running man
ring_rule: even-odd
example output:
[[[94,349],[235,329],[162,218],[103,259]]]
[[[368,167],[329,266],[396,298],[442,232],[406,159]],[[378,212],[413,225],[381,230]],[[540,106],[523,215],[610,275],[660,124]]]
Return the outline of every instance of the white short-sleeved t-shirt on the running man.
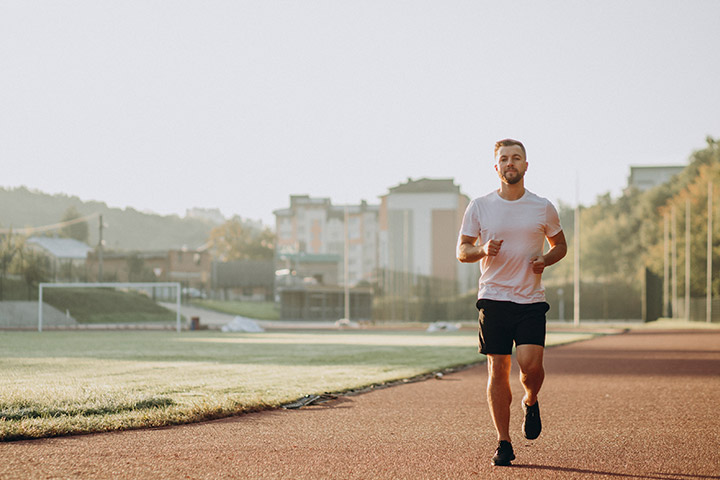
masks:
[[[505,200],[494,191],[470,202],[460,234],[479,237],[479,244],[503,240],[496,256],[480,261],[478,298],[544,302],[542,275],[533,273],[530,259],[542,255],[545,237],[561,231],[553,204],[527,189],[518,200]]]

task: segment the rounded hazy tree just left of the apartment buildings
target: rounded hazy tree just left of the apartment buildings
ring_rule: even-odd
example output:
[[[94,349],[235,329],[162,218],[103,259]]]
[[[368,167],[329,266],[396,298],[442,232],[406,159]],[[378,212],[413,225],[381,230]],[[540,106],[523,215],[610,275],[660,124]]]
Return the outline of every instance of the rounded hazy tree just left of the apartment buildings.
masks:
[[[272,260],[275,256],[275,234],[237,216],[213,228],[209,242],[215,256],[223,261]]]

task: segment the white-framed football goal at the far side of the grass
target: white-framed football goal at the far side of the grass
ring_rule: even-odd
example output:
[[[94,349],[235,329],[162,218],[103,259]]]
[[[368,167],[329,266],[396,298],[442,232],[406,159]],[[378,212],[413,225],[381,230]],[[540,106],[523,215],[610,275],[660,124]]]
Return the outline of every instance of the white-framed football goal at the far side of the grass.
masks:
[[[61,289],[65,289],[61,292]],[[104,289],[89,292],[88,289]],[[53,290],[49,292],[48,290]],[[168,319],[169,312],[157,301],[174,303],[176,329],[182,328],[178,282],[41,283],[38,288],[38,332],[43,330],[43,305],[52,303],[67,316],[82,315],[90,323],[127,322],[128,319]],[[48,297],[53,297],[52,299]],[[50,302],[49,300],[52,300]]]

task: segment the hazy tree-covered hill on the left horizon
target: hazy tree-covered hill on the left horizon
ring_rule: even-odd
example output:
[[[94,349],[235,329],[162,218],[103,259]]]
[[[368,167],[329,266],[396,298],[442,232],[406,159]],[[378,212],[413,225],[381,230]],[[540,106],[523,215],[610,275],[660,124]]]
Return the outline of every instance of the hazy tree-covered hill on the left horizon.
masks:
[[[111,208],[103,202],[84,202],[68,195],[49,195],[25,187],[0,188],[0,227],[22,228],[60,222],[69,207],[81,215],[101,214],[107,228],[103,230],[108,250],[166,250],[195,248],[204,244],[213,224],[177,215],[153,215],[133,208]],[[99,223],[88,222],[90,245],[97,245]]]

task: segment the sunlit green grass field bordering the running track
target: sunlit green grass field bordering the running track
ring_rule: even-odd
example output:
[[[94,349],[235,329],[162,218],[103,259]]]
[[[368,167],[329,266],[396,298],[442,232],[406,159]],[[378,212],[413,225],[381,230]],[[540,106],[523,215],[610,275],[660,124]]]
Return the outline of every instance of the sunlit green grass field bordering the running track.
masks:
[[[196,422],[410,378],[482,360],[476,335],[0,332],[0,440]]]

